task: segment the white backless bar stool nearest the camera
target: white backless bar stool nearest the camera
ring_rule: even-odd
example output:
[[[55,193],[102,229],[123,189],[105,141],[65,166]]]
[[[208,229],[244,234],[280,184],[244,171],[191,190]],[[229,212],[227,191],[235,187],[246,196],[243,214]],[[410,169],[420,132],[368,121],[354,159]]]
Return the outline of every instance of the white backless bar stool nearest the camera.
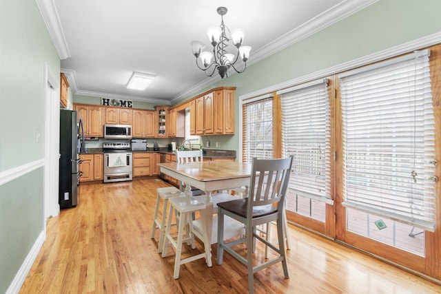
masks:
[[[171,244],[176,249],[176,256],[174,260],[174,279],[178,279],[179,277],[179,268],[181,264],[185,264],[187,262],[192,262],[194,260],[198,260],[199,258],[205,258],[205,262],[209,267],[212,266],[212,258],[211,258],[211,246],[208,240],[206,233],[203,233],[201,236],[198,232],[194,231],[192,225],[192,213],[196,211],[201,211],[207,207],[207,204],[204,200],[205,196],[192,197],[192,196],[178,196],[170,198],[170,211],[168,213],[167,220],[167,229],[165,233],[164,240],[164,248],[162,257],[165,258],[167,256],[167,248]],[[170,227],[172,225],[172,216],[174,211],[176,211],[180,216],[180,220],[178,222],[178,232],[177,235],[170,234]],[[203,222],[203,226],[207,225],[207,220],[205,219],[205,213],[201,213],[201,218]],[[187,232],[189,233],[186,238],[184,238],[185,227],[187,227]],[[182,244],[183,242],[192,242],[192,249],[195,249],[196,246],[194,244],[194,235],[198,236],[204,242],[204,253],[193,255],[189,258],[185,258],[181,260],[182,253]]]

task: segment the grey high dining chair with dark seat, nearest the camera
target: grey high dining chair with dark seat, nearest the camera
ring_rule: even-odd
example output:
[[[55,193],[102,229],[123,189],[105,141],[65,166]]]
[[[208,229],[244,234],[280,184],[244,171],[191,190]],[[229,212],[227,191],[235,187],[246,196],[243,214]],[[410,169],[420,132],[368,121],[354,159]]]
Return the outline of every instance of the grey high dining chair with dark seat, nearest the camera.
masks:
[[[254,273],[272,264],[282,262],[283,273],[286,278],[289,277],[283,236],[283,210],[292,162],[292,156],[282,159],[253,158],[248,198],[218,203],[217,264],[222,264],[224,250],[245,264],[248,272],[249,293],[254,293]],[[245,237],[229,242],[224,241],[225,216],[245,224]],[[277,226],[278,247],[256,233],[256,226],[273,221]],[[253,249],[256,240],[275,251],[277,256],[253,266]],[[242,243],[247,246],[246,258],[232,249],[233,246]]]

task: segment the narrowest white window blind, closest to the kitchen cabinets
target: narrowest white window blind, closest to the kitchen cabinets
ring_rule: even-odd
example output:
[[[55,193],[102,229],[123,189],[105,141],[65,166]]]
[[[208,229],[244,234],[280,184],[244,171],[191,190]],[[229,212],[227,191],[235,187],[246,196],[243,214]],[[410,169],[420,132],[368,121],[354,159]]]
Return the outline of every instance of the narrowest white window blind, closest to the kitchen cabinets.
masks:
[[[260,96],[243,102],[242,158],[273,158],[273,97]]]

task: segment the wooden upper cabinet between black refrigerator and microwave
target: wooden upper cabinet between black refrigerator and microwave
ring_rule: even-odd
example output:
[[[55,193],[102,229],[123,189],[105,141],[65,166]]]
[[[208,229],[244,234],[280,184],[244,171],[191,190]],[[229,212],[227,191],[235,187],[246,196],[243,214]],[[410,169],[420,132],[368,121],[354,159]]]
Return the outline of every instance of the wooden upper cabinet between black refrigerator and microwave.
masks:
[[[77,119],[83,120],[84,136],[103,137],[105,109],[100,106],[74,104]]]

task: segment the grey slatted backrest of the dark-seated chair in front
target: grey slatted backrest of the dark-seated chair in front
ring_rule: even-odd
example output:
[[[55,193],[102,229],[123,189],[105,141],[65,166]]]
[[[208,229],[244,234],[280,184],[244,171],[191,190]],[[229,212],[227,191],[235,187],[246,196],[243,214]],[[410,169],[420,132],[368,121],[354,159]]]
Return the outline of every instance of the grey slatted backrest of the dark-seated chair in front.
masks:
[[[252,213],[253,207],[269,204],[277,204],[278,209],[282,208],[292,162],[292,156],[283,159],[253,158],[248,213]]]

